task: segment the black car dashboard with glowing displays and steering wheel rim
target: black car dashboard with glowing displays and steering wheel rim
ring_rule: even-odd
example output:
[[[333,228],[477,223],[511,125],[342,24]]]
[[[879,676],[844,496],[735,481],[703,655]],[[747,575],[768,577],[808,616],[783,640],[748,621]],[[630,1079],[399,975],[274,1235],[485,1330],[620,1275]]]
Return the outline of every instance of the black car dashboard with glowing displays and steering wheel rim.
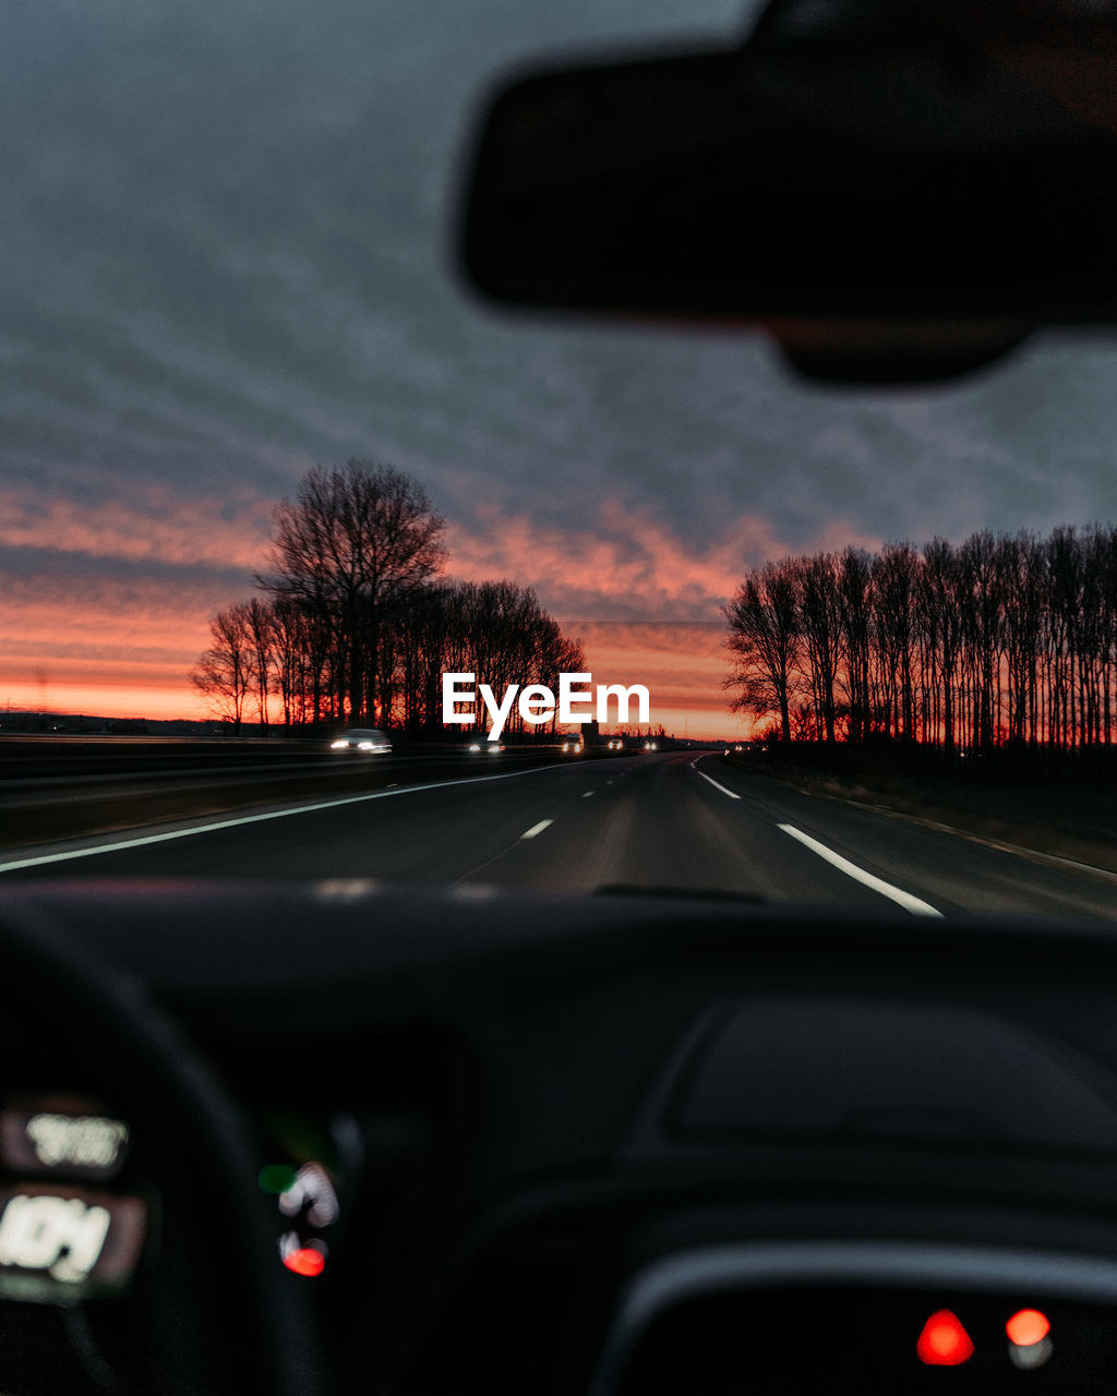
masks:
[[[1113,1383],[1103,927],[364,882],[0,924],[8,1396]]]

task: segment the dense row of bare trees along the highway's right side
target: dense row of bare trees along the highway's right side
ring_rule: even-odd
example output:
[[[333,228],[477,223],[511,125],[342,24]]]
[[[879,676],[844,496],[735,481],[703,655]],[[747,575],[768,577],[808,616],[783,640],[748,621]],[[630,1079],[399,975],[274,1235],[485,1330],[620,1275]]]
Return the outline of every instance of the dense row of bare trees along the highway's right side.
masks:
[[[787,557],[753,570],[725,614],[732,708],[785,741],[1113,741],[1113,526]]]

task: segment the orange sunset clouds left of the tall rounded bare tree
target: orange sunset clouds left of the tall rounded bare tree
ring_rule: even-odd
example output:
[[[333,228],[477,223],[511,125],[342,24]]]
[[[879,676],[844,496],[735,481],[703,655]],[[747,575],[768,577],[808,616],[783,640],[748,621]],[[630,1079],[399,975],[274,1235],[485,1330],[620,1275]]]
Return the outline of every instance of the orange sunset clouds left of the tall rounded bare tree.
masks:
[[[250,593],[268,535],[268,501],[250,490],[183,500],[142,482],[94,503],[0,490],[0,704],[204,716],[187,673],[209,616]]]

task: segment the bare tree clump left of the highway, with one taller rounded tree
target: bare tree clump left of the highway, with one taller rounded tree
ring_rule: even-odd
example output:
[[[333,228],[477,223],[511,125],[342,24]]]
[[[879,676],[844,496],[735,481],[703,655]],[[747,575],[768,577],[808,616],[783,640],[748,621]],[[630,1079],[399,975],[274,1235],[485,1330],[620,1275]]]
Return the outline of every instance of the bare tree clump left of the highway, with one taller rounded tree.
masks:
[[[561,671],[585,667],[579,642],[529,588],[440,575],[445,521],[392,466],[316,468],[274,517],[262,595],[211,618],[211,645],[190,673],[236,729],[369,722],[433,732],[444,671],[475,673],[501,692],[508,683],[557,687]],[[479,725],[483,716],[482,706]]]

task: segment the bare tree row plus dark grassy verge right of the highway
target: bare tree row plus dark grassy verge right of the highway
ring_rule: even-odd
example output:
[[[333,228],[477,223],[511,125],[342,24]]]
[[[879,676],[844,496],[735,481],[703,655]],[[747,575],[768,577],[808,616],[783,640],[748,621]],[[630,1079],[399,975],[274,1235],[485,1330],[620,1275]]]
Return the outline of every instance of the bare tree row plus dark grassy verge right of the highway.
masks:
[[[734,762],[1117,871],[1117,528],[787,557],[725,614]]]

